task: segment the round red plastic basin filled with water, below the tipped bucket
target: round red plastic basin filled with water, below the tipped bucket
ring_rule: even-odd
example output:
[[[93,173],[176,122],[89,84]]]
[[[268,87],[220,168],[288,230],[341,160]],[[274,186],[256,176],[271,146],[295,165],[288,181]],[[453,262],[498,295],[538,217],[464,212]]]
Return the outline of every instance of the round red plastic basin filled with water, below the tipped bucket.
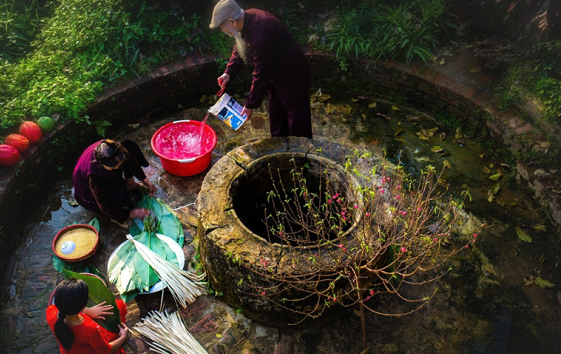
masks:
[[[175,121],[152,136],[152,150],[165,171],[186,177],[197,175],[210,165],[216,133],[200,121]]]

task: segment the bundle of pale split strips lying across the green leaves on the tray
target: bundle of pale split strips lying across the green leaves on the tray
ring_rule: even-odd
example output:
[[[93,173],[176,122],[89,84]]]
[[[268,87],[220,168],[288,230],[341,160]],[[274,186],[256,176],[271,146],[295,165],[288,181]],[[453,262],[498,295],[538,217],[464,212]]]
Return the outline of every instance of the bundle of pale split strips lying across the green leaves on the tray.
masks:
[[[185,308],[187,304],[194,302],[202,294],[202,289],[205,289],[206,285],[205,282],[202,282],[205,278],[205,273],[195,275],[175,267],[175,265],[161,258],[146,245],[134,240],[132,236],[127,235],[126,238],[131,240],[138,253],[153,268],[163,284],[170,289],[175,301],[181,304],[181,306]]]

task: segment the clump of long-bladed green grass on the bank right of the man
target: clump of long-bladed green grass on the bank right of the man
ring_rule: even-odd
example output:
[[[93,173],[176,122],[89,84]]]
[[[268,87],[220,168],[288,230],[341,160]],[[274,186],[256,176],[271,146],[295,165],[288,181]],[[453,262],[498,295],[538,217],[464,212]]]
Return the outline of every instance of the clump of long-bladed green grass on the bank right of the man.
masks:
[[[447,6],[446,0],[415,0],[341,9],[333,31],[327,33],[327,48],[335,50],[343,70],[350,56],[406,62],[418,57],[428,62],[439,43],[437,36],[455,28]]]

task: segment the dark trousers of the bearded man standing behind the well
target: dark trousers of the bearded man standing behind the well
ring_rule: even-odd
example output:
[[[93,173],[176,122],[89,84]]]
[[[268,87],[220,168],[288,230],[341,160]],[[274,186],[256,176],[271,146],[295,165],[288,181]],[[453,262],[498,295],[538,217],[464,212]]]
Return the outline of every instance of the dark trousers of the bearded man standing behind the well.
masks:
[[[267,94],[271,137],[312,138],[309,90],[307,82],[269,83]]]

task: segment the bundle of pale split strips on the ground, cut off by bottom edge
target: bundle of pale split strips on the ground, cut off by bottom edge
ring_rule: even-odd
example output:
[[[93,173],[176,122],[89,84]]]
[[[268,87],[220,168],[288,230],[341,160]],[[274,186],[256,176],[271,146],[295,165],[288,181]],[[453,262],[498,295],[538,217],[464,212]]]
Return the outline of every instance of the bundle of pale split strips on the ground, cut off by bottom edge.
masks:
[[[153,351],[160,354],[208,354],[207,350],[187,330],[179,311],[173,314],[151,311],[133,327],[148,337]]]

